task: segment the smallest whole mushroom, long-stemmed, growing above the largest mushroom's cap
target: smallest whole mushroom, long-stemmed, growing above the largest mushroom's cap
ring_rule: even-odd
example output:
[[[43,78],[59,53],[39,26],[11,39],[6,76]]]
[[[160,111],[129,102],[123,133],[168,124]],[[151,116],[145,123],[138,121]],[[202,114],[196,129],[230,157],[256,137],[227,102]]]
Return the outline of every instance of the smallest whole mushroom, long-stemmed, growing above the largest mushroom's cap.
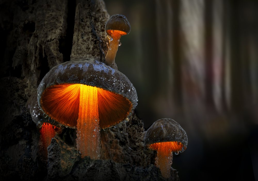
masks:
[[[105,30],[110,36],[110,43],[105,57],[105,63],[112,67],[115,64],[115,57],[118,46],[120,45],[120,38],[121,36],[130,33],[131,26],[124,15],[114,14],[110,16],[109,20],[106,22]]]

